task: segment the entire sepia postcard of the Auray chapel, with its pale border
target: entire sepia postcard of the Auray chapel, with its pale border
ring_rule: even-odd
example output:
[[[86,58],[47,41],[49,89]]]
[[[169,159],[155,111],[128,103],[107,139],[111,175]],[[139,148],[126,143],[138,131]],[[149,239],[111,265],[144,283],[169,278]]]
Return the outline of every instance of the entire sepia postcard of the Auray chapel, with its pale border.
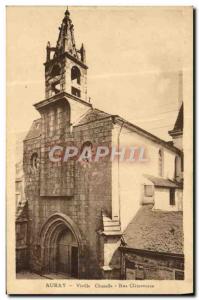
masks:
[[[193,8],[6,14],[8,293],[193,292]]]

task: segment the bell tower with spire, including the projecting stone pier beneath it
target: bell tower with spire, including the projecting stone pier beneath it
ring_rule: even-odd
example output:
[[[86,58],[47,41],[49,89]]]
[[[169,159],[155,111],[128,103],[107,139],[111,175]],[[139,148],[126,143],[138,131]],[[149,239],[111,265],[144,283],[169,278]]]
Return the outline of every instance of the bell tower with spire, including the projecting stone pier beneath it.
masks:
[[[49,159],[49,149],[73,142],[73,125],[90,108],[87,101],[86,54],[78,50],[68,9],[59,28],[56,47],[46,47],[45,99],[34,104],[41,115],[40,196],[74,194],[74,162]],[[64,174],[64,175],[63,175]]]

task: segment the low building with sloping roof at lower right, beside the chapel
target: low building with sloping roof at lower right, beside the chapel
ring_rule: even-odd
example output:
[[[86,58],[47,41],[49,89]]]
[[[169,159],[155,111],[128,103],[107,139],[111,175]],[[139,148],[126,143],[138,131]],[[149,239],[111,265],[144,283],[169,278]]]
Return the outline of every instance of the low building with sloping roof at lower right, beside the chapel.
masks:
[[[121,279],[183,280],[183,213],[143,205],[123,233]]]

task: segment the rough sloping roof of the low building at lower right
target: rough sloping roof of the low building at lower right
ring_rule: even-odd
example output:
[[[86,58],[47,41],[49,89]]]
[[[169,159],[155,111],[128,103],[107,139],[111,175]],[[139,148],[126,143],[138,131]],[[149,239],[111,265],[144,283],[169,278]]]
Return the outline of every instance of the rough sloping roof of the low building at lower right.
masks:
[[[183,214],[142,206],[123,233],[127,247],[183,254]]]

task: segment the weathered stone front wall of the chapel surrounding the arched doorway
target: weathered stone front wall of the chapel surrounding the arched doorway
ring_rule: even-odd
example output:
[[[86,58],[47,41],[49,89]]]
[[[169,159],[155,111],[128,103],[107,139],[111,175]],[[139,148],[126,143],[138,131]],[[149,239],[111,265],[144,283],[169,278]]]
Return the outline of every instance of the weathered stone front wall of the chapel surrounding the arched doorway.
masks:
[[[43,125],[46,125],[47,120],[43,119],[43,122]],[[83,251],[79,257],[79,277],[101,278],[98,231],[102,226],[102,211],[108,215],[111,214],[110,161],[108,158],[104,158],[99,162],[71,161],[70,163],[60,162],[59,165],[56,165],[57,163],[51,165],[47,155],[49,143],[53,145],[55,142],[59,142],[64,146],[68,143],[67,137],[70,137],[70,142],[79,148],[85,141],[90,141],[92,145],[110,146],[112,123],[110,120],[98,120],[77,126],[73,132],[65,131],[62,138],[60,135],[58,140],[55,140],[54,136],[45,136],[45,126],[42,128],[41,137],[24,142],[25,194],[29,210],[30,269],[36,272],[42,271],[41,228],[50,216],[62,213],[70,217],[81,232]],[[40,161],[37,168],[32,166],[31,157],[34,153],[37,153]],[[57,167],[62,169],[60,177],[56,176],[59,172],[56,170]],[[51,168],[52,170],[50,170]],[[70,182],[66,180],[67,177],[70,178]],[[65,189],[69,188],[68,185],[73,180],[73,193],[63,194],[63,189],[59,189],[60,180],[66,180]],[[53,189],[56,184],[59,184],[58,192],[54,194]],[[46,194],[41,191],[45,191]]]

